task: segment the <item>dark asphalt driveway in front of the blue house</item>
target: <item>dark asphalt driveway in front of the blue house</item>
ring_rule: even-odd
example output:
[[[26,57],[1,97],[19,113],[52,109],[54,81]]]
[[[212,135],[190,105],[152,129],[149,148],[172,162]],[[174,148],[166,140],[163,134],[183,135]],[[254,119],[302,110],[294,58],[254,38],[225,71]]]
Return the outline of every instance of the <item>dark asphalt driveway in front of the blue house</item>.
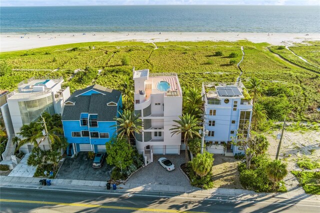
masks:
[[[86,151],[80,151],[75,158],[66,158],[55,178],[107,181],[112,166],[105,161],[101,168],[93,168],[93,159],[87,158]]]

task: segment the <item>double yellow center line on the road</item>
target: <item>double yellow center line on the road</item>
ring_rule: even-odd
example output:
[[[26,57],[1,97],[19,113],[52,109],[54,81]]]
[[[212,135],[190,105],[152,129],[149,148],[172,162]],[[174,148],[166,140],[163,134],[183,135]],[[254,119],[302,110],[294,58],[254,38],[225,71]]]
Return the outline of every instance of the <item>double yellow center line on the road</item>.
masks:
[[[121,207],[121,206],[111,206],[111,205],[94,205],[94,204],[84,204],[84,203],[49,202],[49,201],[20,200],[20,199],[0,199],[0,202],[23,202],[23,203],[38,203],[38,204],[50,204],[50,205],[71,205],[71,206],[82,206],[82,207],[113,208],[113,209],[125,209],[125,210],[154,211],[154,212],[200,213],[196,211],[180,211],[180,210],[157,209],[157,208],[135,208],[135,207]]]

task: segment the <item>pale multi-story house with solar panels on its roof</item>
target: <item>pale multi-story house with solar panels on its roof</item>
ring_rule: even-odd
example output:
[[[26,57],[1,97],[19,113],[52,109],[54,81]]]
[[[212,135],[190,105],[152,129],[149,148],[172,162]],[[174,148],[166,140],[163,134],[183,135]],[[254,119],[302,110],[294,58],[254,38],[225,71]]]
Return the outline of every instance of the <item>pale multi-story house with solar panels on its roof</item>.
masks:
[[[204,100],[204,141],[211,153],[235,155],[243,147],[235,145],[237,132],[247,137],[252,101],[245,99],[244,86],[227,83],[202,83]]]

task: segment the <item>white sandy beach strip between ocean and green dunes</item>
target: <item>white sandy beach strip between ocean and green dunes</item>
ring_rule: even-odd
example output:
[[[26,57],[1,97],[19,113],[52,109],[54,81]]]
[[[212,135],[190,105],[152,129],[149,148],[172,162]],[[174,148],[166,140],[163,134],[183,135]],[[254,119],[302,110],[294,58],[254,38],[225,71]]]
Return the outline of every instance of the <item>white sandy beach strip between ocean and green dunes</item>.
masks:
[[[304,40],[320,40],[320,33],[253,33],[253,32],[99,32],[99,33],[38,33],[1,34],[0,51],[14,51],[67,43],[91,41],[135,40],[160,41],[236,41],[287,45]]]

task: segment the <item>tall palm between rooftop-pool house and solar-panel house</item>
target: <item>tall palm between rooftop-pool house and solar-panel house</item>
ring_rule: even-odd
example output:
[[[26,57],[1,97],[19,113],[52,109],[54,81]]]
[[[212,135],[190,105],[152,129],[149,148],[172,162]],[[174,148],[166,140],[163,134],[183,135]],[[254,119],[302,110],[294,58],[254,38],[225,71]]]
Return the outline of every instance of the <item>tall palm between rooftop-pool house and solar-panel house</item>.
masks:
[[[188,139],[193,138],[193,135],[201,137],[199,134],[200,126],[199,120],[194,117],[194,115],[190,115],[188,113],[182,114],[179,116],[180,120],[173,120],[177,123],[177,125],[172,125],[174,128],[170,128],[172,130],[171,133],[173,134],[183,134],[184,135],[184,144],[185,144],[185,161],[186,163],[189,161],[188,156]]]

